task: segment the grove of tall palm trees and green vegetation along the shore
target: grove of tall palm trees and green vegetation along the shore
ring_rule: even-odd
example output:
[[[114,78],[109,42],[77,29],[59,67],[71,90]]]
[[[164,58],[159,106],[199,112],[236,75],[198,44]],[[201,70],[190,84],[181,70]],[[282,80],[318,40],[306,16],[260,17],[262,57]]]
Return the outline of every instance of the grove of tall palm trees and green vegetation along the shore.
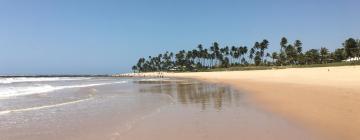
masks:
[[[198,45],[196,49],[177,53],[165,52],[157,56],[140,58],[132,67],[134,72],[154,71],[225,71],[225,70],[263,70],[289,67],[322,67],[357,65],[356,62],[343,62],[347,58],[360,56],[360,40],[349,38],[341,48],[330,52],[326,47],[303,52],[302,42],[289,43],[283,37],[279,52],[268,52],[269,41],[255,42],[254,46],[220,47],[214,42],[209,48]]]

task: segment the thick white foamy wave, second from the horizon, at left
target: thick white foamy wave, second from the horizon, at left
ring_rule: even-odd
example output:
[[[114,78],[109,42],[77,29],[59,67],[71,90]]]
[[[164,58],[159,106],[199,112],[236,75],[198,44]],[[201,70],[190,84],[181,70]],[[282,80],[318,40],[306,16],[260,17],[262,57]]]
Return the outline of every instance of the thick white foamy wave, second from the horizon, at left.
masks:
[[[95,84],[81,84],[81,85],[69,85],[69,86],[52,86],[48,84],[37,84],[26,87],[2,87],[0,88],[0,99],[10,98],[16,96],[24,96],[31,94],[39,94],[52,92],[62,89],[70,88],[83,88],[83,87],[92,87],[92,86],[101,86],[101,85],[110,85],[110,84],[121,84],[126,83],[127,81],[118,81],[118,82],[108,82],[108,83],[95,83]]]

